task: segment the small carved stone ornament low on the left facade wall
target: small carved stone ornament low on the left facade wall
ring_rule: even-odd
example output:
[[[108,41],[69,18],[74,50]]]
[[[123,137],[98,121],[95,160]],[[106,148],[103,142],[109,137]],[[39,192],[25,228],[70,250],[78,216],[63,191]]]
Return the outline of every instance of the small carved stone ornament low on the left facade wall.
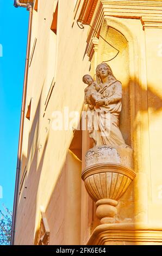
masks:
[[[47,223],[47,218],[44,212],[41,212],[41,216],[42,218],[40,221],[37,245],[48,245],[50,231]]]

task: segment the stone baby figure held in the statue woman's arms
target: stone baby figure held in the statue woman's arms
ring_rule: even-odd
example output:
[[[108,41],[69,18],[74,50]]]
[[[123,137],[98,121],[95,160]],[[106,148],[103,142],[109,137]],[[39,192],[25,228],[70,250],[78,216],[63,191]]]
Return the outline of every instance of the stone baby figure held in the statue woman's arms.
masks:
[[[92,108],[96,105],[97,100],[102,99],[102,95],[98,93],[100,87],[90,75],[84,75],[83,82],[88,84],[88,87],[84,90],[84,104],[88,104],[89,107]]]

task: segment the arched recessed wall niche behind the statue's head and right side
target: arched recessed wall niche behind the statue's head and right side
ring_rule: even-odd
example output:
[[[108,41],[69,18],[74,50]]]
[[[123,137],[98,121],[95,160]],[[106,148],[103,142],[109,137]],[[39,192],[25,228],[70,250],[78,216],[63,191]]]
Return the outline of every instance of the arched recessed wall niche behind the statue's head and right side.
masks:
[[[139,65],[135,62],[135,58],[138,56],[137,39],[127,27],[126,20],[110,16],[105,16],[100,34],[110,45],[99,37],[97,63],[107,62],[117,80],[122,83],[120,129],[126,143],[133,148],[132,114],[130,113],[133,107],[132,88],[135,86],[134,81],[139,76]],[[118,51],[119,54],[117,54]],[[108,60],[110,61],[108,62]]]

